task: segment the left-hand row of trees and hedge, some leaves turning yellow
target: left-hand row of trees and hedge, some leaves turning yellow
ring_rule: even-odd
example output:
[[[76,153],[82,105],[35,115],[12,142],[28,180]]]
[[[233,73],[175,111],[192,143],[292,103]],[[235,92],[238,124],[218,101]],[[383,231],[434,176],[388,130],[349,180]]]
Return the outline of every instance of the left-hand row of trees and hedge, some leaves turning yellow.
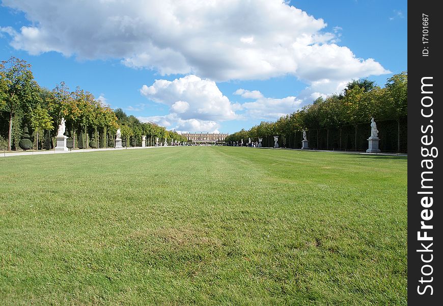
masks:
[[[142,123],[121,109],[110,109],[79,87],[70,91],[62,82],[52,90],[42,88],[24,60],[12,57],[0,63],[1,146],[17,149],[26,126],[30,127],[34,147],[50,149],[62,117],[72,147],[114,146],[119,127],[129,145],[140,145],[142,135],[147,135],[151,144],[155,137],[186,141],[155,123]]]

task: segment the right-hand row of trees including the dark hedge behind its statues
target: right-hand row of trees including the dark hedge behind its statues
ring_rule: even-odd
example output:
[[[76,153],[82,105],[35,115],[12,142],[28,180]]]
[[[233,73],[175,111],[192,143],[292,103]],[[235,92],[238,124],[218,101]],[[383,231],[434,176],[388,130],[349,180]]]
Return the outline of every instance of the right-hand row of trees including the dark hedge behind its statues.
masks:
[[[380,142],[384,141],[386,148],[407,150],[407,71],[387,79],[383,88],[368,79],[353,80],[339,94],[319,97],[301,110],[275,122],[263,121],[250,130],[233,133],[225,141],[229,144],[241,139],[256,141],[280,136],[284,147],[288,143],[292,143],[290,147],[300,147],[301,131],[305,130],[310,136],[310,147],[358,150],[367,145],[369,134],[365,133],[370,130],[372,117],[383,126],[379,130],[386,137],[380,137]],[[273,146],[273,141],[268,142],[267,146]]]

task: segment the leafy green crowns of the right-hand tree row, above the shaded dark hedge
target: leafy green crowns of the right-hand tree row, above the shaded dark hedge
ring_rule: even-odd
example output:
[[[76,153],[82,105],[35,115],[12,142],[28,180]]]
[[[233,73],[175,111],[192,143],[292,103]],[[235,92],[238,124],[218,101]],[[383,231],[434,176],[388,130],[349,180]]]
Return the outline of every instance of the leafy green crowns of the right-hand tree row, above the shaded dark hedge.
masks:
[[[241,141],[248,138],[256,140],[258,137],[270,136],[282,136],[285,139],[298,131],[307,130],[308,133],[311,132],[309,133],[311,138],[312,136],[317,138],[310,139],[313,146],[319,147],[318,138],[323,133],[326,135],[325,146],[330,148],[330,132],[336,131],[341,138],[344,127],[352,126],[353,144],[357,150],[358,126],[368,123],[369,128],[371,117],[374,117],[377,123],[395,121],[396,149],[401,151],[401,142],[406,141],[406,135],[402,132],[406,129],[407,121],[406,71],[393,75],[387,80],[384,88],[376,86],[375,82],[367,79],[354,80],[348,83],[340,94],[333,94],[326,98],[319,97],[313,104],[304,106],[301,110],[283,116],[275,122],[261,122],[248,131],[241,130],[233,133],[225,141]],[[402,124],[404,126],[401,126]],[[405,148],[405,145],[402,147]]]

